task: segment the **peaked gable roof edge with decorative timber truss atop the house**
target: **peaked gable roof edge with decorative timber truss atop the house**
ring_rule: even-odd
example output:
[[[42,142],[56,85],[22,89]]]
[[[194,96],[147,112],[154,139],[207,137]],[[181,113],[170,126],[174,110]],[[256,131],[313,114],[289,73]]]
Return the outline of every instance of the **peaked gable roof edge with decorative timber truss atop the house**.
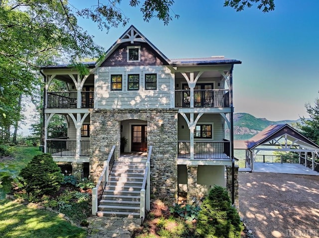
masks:
[[[160,59],[163,65],[169,65],[170,60],[156,48],[134,25],[131,25],[120,38],[106,51],[103,60],[96,63],[96,68],[103,66],[104,62],[122,45],[147,46]]]

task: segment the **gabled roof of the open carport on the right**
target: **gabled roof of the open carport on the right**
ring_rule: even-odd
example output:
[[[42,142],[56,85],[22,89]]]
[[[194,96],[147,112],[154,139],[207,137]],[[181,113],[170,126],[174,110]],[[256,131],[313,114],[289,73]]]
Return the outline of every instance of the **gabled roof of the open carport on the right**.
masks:
[[[247,141],[234,141],[234,149],[252,150],[257,146],[263,145],[268,141],[284,135],[287,135],[290,139],[298,139],[301,142],[299,144],[302,146],[311,146],[319,149],[319,146],[316,143],[299,133],[288,124],[270,125]]]

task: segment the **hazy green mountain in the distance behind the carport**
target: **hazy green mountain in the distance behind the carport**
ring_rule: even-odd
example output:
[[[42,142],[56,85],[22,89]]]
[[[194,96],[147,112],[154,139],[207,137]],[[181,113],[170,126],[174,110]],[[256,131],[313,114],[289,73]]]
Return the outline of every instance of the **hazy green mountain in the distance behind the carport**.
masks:
[[[249,113],[234,113],[234,139],[248,140],[270,125],[293,124],[294,120],[268,121],[266,118],[256,118]],[[226,135],[229,130],[226,130]]]

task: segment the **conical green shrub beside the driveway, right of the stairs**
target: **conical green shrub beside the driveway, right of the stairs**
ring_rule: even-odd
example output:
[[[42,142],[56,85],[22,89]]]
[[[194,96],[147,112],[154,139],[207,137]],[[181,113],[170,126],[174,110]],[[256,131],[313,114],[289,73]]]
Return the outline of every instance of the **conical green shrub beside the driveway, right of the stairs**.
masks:
[[[213,187],[201,205],[197,234],[203,238],[240,238],[242,229],[240,217],[231,206],[226,189]]]

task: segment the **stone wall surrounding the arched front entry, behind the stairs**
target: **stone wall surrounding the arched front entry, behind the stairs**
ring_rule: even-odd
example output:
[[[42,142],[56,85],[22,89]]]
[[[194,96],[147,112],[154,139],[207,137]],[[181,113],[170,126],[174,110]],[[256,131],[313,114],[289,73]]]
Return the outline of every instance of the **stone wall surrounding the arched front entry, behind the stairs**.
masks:
[[[97,181],[103,161],[116,145],[120,151],[121,121],[143,120],[148,126],[151,157],[151,200],[171,205],[177,197],[177,109],[96,109],[91,111],[90,174]]]

